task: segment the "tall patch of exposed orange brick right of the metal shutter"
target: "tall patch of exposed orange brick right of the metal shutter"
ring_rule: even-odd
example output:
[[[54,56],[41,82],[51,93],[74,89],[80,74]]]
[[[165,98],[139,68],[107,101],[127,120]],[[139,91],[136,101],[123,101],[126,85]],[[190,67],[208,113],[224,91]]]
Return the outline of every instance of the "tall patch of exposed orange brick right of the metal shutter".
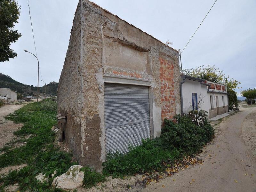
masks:
[[[174,65],[168,60],[159,58],[160,62],[160,82],[161,82],[161,103],[162,121],[173,119],[175,115],[175,95],[174,95]]]

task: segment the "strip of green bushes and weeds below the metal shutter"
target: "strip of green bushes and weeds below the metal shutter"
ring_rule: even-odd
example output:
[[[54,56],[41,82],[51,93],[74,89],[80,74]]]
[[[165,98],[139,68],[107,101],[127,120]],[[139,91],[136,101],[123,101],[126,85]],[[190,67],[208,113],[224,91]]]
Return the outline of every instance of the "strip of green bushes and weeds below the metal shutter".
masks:
[[[178,123],[164,120],[159,138],[142,140],[142,145],[130,146],[130,151],[126,154],[108,153],[107,161],[103,163],[103,173],[122,177],[154,170],[162,171],[167,164],[181,159],[183,155],[198,153],[212,139],[214,129],[207,121],[197,125],[188,116],[177,115],[175,118]]]

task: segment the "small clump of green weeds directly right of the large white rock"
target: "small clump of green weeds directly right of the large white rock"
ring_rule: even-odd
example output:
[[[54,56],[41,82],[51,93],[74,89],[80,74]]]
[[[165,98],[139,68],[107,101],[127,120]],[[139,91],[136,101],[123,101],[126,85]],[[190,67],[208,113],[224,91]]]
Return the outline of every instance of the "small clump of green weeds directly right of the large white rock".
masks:
[[[99,182],[106,180],[106,177],[103,174],[92,171],[89,167],[83,167],[80,171],[84,172],[84,187],[90,188],[96,185]]]

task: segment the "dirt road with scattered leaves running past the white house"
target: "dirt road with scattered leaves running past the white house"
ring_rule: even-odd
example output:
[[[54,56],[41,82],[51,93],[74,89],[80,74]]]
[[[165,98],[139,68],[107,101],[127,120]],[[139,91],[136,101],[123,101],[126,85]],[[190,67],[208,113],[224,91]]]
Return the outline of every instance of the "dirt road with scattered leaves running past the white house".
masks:
[[[203,165],[190,167],[136,191],[256,192],[256,159],[242,136],[246,116],[255,111],[247,108],[215,126],[216,138],[200,154]]]

